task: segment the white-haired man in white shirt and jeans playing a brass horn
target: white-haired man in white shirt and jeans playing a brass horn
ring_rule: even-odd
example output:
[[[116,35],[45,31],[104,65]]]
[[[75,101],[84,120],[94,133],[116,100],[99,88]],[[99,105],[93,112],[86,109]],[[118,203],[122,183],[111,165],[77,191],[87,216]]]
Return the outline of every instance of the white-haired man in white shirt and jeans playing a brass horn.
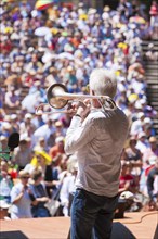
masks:
[[[91,103],[78,102],[65,138],[65,152],[76,153],[78,160],[70,238],[109,239],[118,201],[120,155],[129,122],[119,108],[110,109],[110,101],[93,98],[114,99],[117,83],[113,73],[93,70],[89,87]]]

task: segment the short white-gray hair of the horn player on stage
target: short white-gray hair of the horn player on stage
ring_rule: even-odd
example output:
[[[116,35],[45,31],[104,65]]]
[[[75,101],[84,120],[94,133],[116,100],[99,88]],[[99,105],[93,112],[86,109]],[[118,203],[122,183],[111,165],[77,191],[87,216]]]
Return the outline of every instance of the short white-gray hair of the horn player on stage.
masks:
[[[117,91],[115,73],[106,68],[95,68],[90,75],[90,89],[96,96],[108,96],[114,98]]]

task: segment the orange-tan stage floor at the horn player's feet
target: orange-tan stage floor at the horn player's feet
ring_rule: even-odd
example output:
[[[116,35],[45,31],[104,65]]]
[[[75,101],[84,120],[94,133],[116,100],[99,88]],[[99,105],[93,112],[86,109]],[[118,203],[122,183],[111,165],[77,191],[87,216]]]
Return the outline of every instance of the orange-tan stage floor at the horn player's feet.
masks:
[[[158,211],[126,213],[114,221],[113,239],[158,239]],[[0,221],[0,239],[67,239],[69,217]]]

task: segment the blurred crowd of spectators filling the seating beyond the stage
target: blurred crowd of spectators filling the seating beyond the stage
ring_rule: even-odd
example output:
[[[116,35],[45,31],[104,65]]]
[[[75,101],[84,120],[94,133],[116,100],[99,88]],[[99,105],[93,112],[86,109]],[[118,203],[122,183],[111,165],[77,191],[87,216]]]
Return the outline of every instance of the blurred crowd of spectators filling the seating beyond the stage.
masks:
[[[57,199],[62,215],[69,215],[77,164],[75,155],[64,152],[64,137],[71,116],[42,110],[37,115],[36,109],[48,102],[47,89],[55,83],[66,85],[70,93],[87,93],[89,75],[97,67],[115,72],[115,101],[131,126],[121,159],[120,193],[141,194],[143,205],[148,201],[155,206],[158,141],[153,120],[158,114],[147,104],[141,45],[158,27],[156,1],[154,5],[147,12],[140,1],[120,0],[116,10],[105,5],[101,11],[80,2],[38,11],[27,1],[0,2],[1,149],[8,150],[13,131],[21,136],[11,162],[8,153],[0,154],[0,196],[13,204],[13,218],[49,216],[37,209],[50,199]],[[27,93],[22,98],[24,89]],[[31,211],[23,211],[24,204]]]

